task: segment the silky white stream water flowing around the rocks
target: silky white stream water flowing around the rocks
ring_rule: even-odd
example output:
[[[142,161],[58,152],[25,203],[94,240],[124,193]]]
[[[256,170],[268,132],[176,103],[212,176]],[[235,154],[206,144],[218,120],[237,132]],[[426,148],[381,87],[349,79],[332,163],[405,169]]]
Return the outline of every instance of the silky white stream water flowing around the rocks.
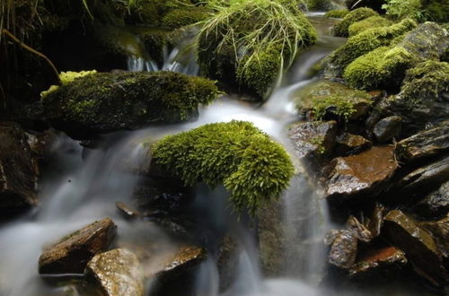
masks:
[[[117,246],[145,246],[148,241],[157,240],[161,252],[156,253],[154,258],[162,258],[165,252],[173,248],[174,242],[156,223],[128,222],[115,208],[116,201],[130,201],[139,182],[139,177],[122,169],[124,163],[132,165],[145,161],[145,147],[141,144],[144,140],[157,141],[163,135],[207,123],[239,119],[251,121],[290,149],[286,126],[297,120],[292,101],[295,91],[313,82],[316,79],[313,65],[344,42],[327,34],[329,22],[323,22],[319,16],[313,17],[313,22],[320,31],[319,42],[298,57],[283,82],[261,107],[223,98],[201,109],[195,122],[106,135],[101,149],[88,153],[83,153],[77,142],[61,135],[53,147],[52,170],[40,183],[41,203],[38,210],[0,228],[0,295],[66,295],[70,292],[76,295],[75,285],[57,287],[43,281],[37,273],[38,258],[43,246],[103,217],[110,217],[118,224]],[[172,53],[167,51],[162,69],[198,73],[198,66],[191,65],[195,64],[191,61],[187,65],[177,65],[177,54],[177,48]],[[140,57],[130,57],[129,69],[159,70],[154,62]],[[304,176],[294,178],[282,196],[284,235],[293,242],[292,246],[301,241],[305,248],[301,251],[287,249],[286,256],[291,257],[288,257],[285,266],[286,276],[281,279],[265,279],[261,275],[254,233],[245,226],[245,222],[237,222],[236,217],[229,213],[224,189],[211,191],[198,187],[196,192],[195,209],[207,219],[207,226],[204,226],[207,231],[218,233],[227,230],[238,241],[240,255],[236,281],[223,296],[359,294],[316,288],[325,266],[325,250],[319,246],[322,246],[328,218],[325,205]],[[200,267],[196,289],[200,296],[220,295],[219,275],[213,259],[208,259]]]

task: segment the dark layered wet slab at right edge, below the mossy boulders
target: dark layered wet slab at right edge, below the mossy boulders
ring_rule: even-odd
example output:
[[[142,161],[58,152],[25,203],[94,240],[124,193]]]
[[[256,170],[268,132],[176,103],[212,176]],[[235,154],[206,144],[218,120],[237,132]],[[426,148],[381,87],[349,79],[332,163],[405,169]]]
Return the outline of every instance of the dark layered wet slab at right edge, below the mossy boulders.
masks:
[[[449,121],[412,135],[396,145],[401,161],[417,161],[449,150]]]

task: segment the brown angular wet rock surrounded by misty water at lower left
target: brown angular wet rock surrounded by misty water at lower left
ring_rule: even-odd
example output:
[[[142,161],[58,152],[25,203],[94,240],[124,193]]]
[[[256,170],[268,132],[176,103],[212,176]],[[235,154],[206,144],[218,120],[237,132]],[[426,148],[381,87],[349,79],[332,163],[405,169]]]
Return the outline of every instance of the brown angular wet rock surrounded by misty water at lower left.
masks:
[[[109,218],[93,222],[46,249],[39,258],[40,274],[83,274],[87,262],[104,251],[115,237]]]

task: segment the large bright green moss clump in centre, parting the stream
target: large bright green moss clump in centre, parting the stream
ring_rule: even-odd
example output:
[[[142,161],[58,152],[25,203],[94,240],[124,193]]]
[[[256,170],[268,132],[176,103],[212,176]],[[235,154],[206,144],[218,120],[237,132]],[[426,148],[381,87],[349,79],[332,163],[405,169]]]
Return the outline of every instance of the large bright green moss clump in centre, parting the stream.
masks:
[[[154,144],[153,157],[186,185],[223,183],[233,208],[251,214],[277,198],[294,173],[285,149],[244,121],[167,136]]]

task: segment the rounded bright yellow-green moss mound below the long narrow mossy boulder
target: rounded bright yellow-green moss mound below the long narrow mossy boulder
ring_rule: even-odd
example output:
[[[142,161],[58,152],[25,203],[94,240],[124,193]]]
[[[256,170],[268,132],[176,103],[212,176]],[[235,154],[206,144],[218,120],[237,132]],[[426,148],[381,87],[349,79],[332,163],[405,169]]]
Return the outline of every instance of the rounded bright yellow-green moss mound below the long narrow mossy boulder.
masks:
[[[381,47],[349,64],[344,78],[358,89],[394,88],[414,62],[413,55],[404,48]]]

